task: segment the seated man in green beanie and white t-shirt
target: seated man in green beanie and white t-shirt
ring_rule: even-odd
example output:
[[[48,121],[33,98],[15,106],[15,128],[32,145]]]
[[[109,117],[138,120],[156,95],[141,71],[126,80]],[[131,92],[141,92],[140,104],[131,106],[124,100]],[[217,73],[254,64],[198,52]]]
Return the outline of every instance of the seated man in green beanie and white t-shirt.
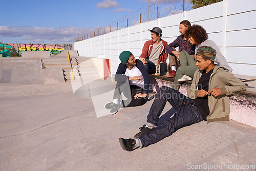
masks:
[[[126,108],[141,105],[147,96],[150,84],[143,63],[135,59],[130,51],[123,51],[119,55],[121,63],[117,68],[115,81],[117,81],[114,100],[105,104],[105,109],[110,109],[111,114],[116,114],[120,107]],[[120,100],[121,93],[127,100]]]

